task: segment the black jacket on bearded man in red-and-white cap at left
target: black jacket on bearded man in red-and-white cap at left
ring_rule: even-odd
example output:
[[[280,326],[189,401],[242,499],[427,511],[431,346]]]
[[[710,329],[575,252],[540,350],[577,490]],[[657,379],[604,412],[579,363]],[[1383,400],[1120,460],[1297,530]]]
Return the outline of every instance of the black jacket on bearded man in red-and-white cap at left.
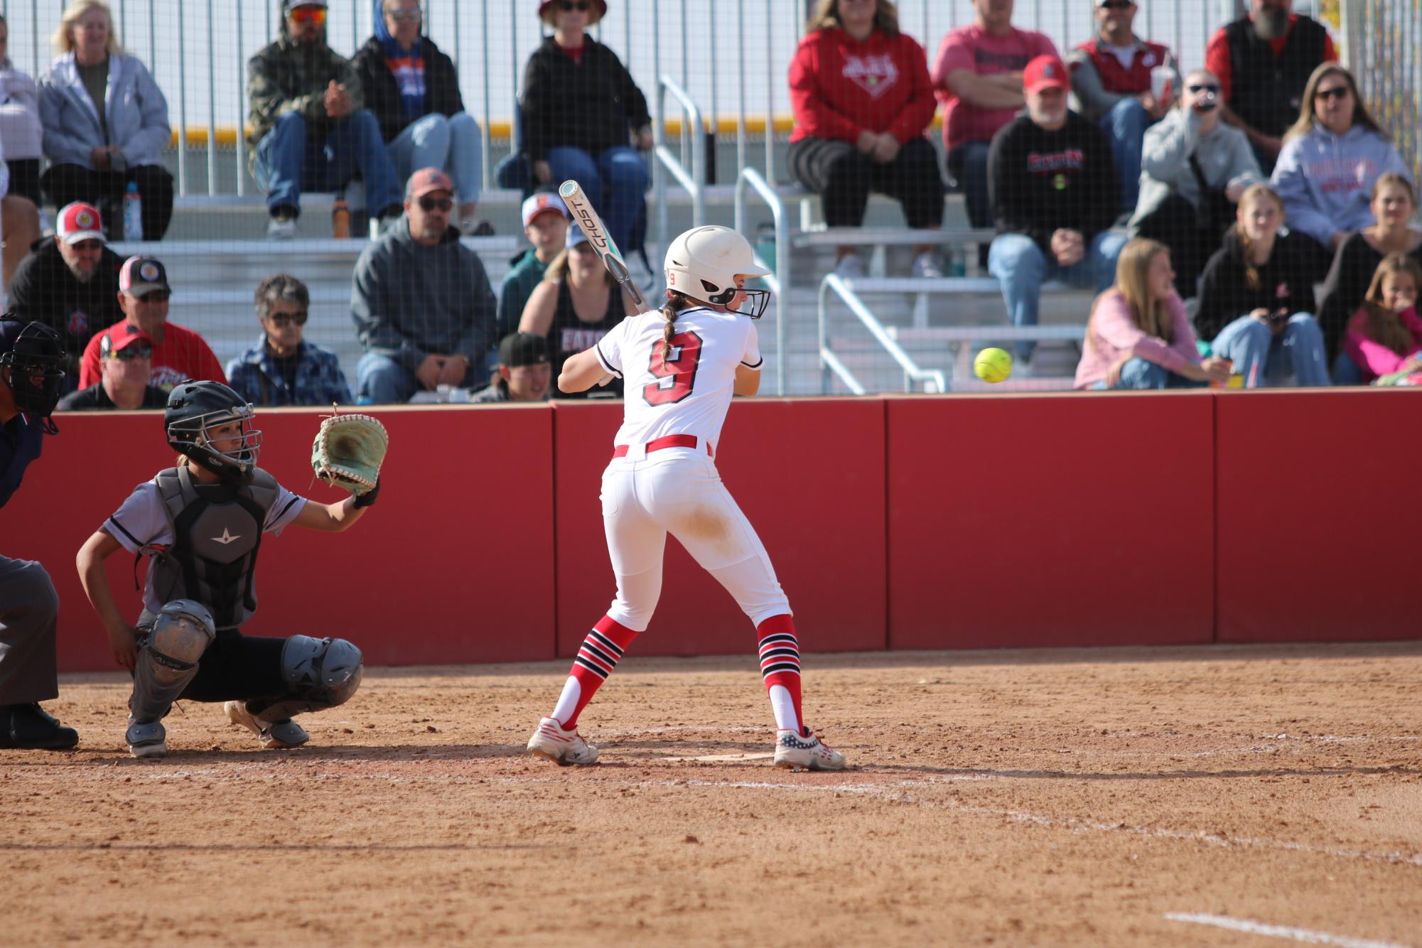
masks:
[[[118,271],[124,259],[107,246],[88,283],[80,283],[60,256],[54,237],[41,237],[14,269],[10,307],[26,320],[38,320],[64,337],[70,365],[78,378],[80,355],[90,338],[124,318],[118,308]]]

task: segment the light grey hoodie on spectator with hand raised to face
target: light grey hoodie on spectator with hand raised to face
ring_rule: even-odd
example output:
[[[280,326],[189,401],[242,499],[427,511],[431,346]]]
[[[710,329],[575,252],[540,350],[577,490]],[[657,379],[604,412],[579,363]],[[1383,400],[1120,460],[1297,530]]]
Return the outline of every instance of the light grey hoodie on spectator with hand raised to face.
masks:
[[[1264,181],[1244,132],[1219,121],[1209,135],[1202,135],[1199,112],[1173,108],[1146,129],[1140,148],[1140,198],[1130,215],[1132,227],[1139,227],[1170,193],[1200,206],[1200,185],[1190,171],[1190,155],[1200,163],[1204,183],[1216,190]]]

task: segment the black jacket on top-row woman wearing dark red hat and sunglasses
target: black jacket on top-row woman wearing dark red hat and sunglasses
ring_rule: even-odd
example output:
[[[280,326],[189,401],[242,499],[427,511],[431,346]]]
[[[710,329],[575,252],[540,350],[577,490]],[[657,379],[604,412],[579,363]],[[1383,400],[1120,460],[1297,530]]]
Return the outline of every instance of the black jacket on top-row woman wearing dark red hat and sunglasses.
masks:
[[[621,60],[592,37],[583,40],[580,64],[545,37],[523,68],[519,104],[529,161],[543,161],[547,149],[560,145],[596,159],[609,148],[626,146],[631,129],[651,121],[647,98]]]

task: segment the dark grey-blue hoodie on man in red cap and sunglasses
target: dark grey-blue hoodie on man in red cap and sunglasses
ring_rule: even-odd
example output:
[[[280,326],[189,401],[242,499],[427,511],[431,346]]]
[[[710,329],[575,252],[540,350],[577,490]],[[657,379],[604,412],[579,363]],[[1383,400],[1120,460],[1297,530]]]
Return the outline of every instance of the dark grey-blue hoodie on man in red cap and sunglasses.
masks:
[[[449,227],[432,246],[415,243],[401,216],[356,262],[351,318],[368,352],[415,371],[425,355],[464,354],[466,385],[488,378],[485,357],[493,344],[498,303],[479,256]]]

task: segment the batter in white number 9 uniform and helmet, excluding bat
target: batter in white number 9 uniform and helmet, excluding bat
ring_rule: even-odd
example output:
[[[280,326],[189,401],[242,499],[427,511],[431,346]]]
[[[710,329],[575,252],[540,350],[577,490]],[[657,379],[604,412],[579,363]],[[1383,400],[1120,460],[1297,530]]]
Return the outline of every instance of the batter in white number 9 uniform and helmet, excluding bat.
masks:
[[[553,713],[529,738],[536,756],[596,763],[597,748],[577,733],[577,716],[651,621],[670,532],[755,623],[775,712],[775,766],[845,767],[845,755],[805,726],[789,601],[712,460],[731,395],[761,387],[751,320],[765,311],[769,291],[742,287],[766,273],[737,232],[694,227],[667,249],[667,306],[623,320],[563,364],[557,384],[566,392],[586,391],[609,374],[624,382],[623,425],[602,492],[617,597],[579,648]]]

